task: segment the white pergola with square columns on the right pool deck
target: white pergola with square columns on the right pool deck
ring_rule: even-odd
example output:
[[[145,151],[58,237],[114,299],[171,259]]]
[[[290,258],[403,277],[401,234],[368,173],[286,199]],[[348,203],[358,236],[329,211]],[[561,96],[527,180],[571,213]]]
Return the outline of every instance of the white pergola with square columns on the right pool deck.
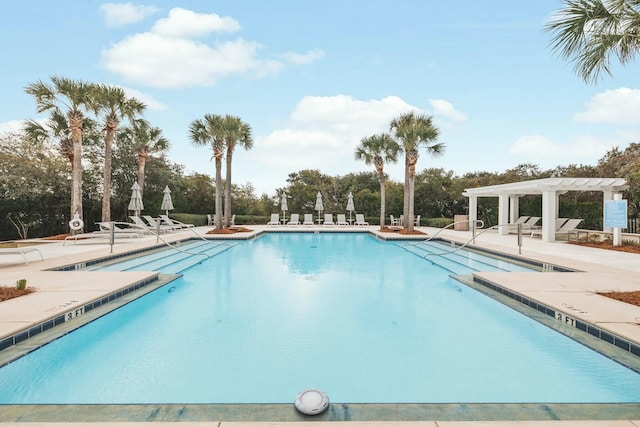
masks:
[[[556,240],[555,219],[558,218],[558,199],[568,191],[602,191],[603,204],[607,200],[622,198],[621,192],[629,188],[624,178],[545,178],[511,184],[467,188],[462,193],[469,198],[469,220],[478,219],[478,198],[498,198],[498,225],[518,219],[519,198],[542,195],[542,240]],[[604,215],[604,209],[603,209]],[[604,219],[603,219],[604,224]],[[611,231],[604,229],[603,231]],[[508,234],[508,227],[498,227],[500,234]]]

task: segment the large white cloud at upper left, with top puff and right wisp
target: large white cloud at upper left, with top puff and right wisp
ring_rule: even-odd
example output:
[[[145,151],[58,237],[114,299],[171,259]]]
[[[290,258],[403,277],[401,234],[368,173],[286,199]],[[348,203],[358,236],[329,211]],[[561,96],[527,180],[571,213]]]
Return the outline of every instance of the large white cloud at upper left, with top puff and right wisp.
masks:
[[[129,82],[162,88],[214,86],[234,75],[263,78],[283,69],[283,61],[258,56],[261,45],[256,41],[195,40],[239,29],[240,24],[230,17],[174,8],[150,31],[132,34],[105,49],[102,64]],[[312,50],[282,57],[289,63],[306,64],[323,55],[320,50]]]

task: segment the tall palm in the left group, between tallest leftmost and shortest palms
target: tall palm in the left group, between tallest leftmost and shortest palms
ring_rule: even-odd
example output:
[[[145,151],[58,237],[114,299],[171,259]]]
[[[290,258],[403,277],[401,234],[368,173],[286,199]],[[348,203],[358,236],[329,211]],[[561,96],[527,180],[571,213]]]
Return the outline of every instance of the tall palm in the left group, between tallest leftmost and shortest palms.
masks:
[[[102,221],[111,221],[111,160],[116,131],[122,119],[133,121],[146,106],[136,98],[127,98],[124,90],[115,86],[96,85],[92,110],[104,114],[104,178],[102,182]]]

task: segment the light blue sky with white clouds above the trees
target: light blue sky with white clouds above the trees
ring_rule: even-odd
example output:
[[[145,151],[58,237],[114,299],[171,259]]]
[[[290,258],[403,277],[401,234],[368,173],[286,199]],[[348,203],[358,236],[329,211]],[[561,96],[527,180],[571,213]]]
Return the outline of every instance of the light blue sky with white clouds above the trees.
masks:
[[[168,158],[214,176],[189,139],[205,114],[251,125],[233,181],[275,194],[290,173],[373,171],[354,159],[395,117],[433,116],[456,175],[595,165],[640,138],[637,64],[587,84],[544,31],[561,0],[95,0],[3,2],[0,133],[44,119],[24,88],[61,76],[122,87],[170,141]],[[403,165],[388,165],[403,181]],[[224,174],[224,172],[223,172]],[[224,176],[224,175],[223,175]]]

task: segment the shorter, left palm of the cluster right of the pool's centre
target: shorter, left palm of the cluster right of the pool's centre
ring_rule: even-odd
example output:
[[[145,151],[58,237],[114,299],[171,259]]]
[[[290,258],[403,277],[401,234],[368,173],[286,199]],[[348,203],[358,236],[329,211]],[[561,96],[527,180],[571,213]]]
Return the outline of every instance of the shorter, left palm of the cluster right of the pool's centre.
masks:
[[[399,152],[400,146],[387,133],[362,138],[355,151],[356,160],[363,160],[367,165],[373,164],[378,174],[378,181],[380,182],[380,229],[384,227],[384,219],[386,217],[384,164],[397,162]]]

